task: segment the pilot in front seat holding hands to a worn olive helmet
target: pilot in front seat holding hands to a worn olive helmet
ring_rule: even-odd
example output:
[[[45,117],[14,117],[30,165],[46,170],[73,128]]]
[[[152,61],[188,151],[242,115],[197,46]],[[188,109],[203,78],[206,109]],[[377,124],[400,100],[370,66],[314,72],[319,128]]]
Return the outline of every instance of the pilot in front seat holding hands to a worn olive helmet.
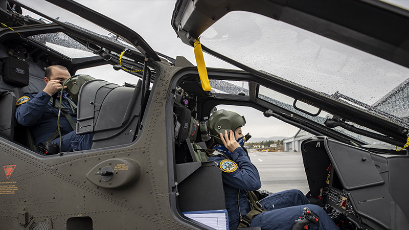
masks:
[[[222,171],[230,229],[237,229],[240,224],[240,227],[288,230],[303,216],[305,207],[320,217],[317,224],[310,224],[309,229],[338,229],[328,214],[320,206],[310,204],[299,190],[269,195],[259,201],[258,208],[251,209],[253,201],[249,201],[251,192],[248,191],[260,189],[261,181],[243,147],[245,137],[241,127],[245,123],[244,117],[224,109],[213,113],[208,121],[209,130],[217,142],[209,160],[216,162]]]

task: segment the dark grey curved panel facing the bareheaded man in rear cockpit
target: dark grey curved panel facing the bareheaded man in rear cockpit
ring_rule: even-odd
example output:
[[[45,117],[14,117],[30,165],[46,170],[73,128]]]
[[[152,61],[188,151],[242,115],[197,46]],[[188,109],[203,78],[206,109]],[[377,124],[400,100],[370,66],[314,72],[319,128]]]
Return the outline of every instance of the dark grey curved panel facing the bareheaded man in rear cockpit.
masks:
[[[90,80],[78,97],[77,134],[94,132],[92,149],[131,143],[138,131],[141,85],[124,87]]]

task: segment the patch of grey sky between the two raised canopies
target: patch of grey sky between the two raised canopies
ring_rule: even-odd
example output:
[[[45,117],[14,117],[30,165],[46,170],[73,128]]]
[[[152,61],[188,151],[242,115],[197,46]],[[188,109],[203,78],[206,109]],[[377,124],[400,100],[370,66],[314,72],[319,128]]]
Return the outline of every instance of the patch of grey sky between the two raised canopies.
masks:
[[[184,56],[195,63],[193,48],[177,38],[170,21],[175,2],[173,0],[77,0],[93,10],[111,17],[131,28],[153,48],[153,50],[175,58]],[[207,66],[226,67],[219,59],[205,54]]]

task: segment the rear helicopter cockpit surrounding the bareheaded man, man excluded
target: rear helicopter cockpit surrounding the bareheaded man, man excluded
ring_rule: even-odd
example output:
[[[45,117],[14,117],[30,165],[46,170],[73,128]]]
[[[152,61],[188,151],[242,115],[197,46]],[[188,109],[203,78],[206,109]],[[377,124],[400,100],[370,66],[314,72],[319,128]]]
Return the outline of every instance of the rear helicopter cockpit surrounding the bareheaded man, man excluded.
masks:
[[[110,64],[114,66],[111,69],[114,73],[123,70],[127,72],[126,75],[135,76],[136,78],[131,79],[134,83],[119,86],[109,83],[109,80],[88,82],[82,95],[79,95],[77,132],[94,132],[93,148],[134,141],[141,122],[139,118],[143,116],[149,97],[150,83],[155,76],[154,68],[148,67],[146,63],[144,65],[144,57],[140,51],[151,48],[147,44],[135,47],[126,38],[112,35],[106,29],[69,11],[61,11],[61,8],[50,3],[41,3],[39,5],[42,7],[38,8],[34,1],[27,1],[23,3],[24,9],[20,4],[13,3],[7,2],[3,9],[11,12],[10,16],[14,17],[3,21],[3,41],[0,48],[4,76],[0,82],[0,104],[7,108],[7,112],[2,113],[0,118],[4,124],[0,130],[2,136],[37,152],[29,129],[16,123],[14,111],[20,97],[44,88],[45,67],[60,64],[66,66],[73,76],[82,68]],[[23,10],[30,16],[23,16]],[[43,14],[44,11],[47,11],[47,15]],[[57,19],[50,17],[51,12],[59,15],[55,17]],[[27,28],[28,25],[31,29]],[[18,26],[24,29],[11,29]],[[153,59],[159,59],[153,54]],[[136,61],[134,55],[141,56],[142,61]],[[139,78],[143,80],[138,80]],[[115,109],[113,105],[116,105]]]

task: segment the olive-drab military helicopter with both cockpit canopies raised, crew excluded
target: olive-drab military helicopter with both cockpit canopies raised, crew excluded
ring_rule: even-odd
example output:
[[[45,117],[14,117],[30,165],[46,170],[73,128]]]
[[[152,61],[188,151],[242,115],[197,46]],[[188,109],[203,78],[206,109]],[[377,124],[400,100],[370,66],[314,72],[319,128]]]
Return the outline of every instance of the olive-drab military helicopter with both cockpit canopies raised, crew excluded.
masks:
[[[277,7],[281,3],[261,2],[281,9]],[[368,1],[358,2],[362,9],[368,8]],[[252,108],[266,119],[280,120],[311,135],[298,149],[307,178],[304,182],[308,182],[307,196],[322,206],[340,229],[404,229],[409,224],[409,196],[404,192],[409,190],[404,182],[409,158],[407,146],[401,147],[409,140],[407,113],[404,106],[389,110],[393,106],[388,103],[406,92],[406,67],[398,69],[396,63],[383,63],[379,57],[349,48],[343,53],[343,47],[326,40],[321,45],[322,37],[303,38],[310,32],[293,27],[281,31],[285,27],[281,22],[263,16],[274,17],[270,12],[243,12],[250,2],[232,1],[236,8],[229,14],[226,11],[231,8],[221,6],[224,1],[218,4],[180,0],[172,18],[175,32],[185,43],[193,45],[203,32],[202,42],[209,44],[203,45],[205,52],[244,70],[207,68],[208,79],[202,79],[197,66],[184,57],[173,59],[155,52],[139,34],[74,1],[0,0],[0,148],[6,173],[0,182],[7,183],[10,191],[19,189],[10,194],[0,189],[0,195],[11,197],[0,201],[1,207],[7,207],[0,213],[10,213],[0,215],[0,220],[26,229],[42,222],[52,223],[47,229],[69,230],[139,224],[141,228],[206,228],[189,214],[226,209],[220,169],[207,160],[213,142],[207,121],[217,108],[227,105]],[[291,8],[291,4],[285,7]],[[294,4],[302,8],[305,3]],[[61,12],[57,6],[66,10]],[[391,8],[382,9],[388,15]],[[280,11],[290,14],[285,20],[299,12],[298,8]],[[223,21],[225,14],[228,17]],[[206,25],[198,18],[206,19]],[[235,28],[231,21],[237,25],[239,19],[248,18],[255,19],[248,20],[246,26],[246,21],[240,22],[246,33],[226,32]],[[322,21],[327,25],[327,20]],[[215,28],[205,31],[213,24]],[[268,26],[278,32],[270,34],[273,30]],[[316,27],[313,24],[311,28]],[[278,40],[260,42],[272,38]],[[340,32],[338,38],[345,36]],[[289,45],[282,45],[287,41]],[[376,54],[378,47],[372,48]],[[265,52],[262,55],[256,51],[260,48]],[[227,56],[220,55],[222,51],[227,51]],[[293,57],[305,54],[307,62],[278,61],[289,51]],[[276,56],[269,58],[270,53]],[[327,58],[338,56],[342,58]],[[399,57],[399,63],[407,62]],[[379,66],[398,71],[366,65],[374,66],[375,59],[383,63]],[[30,141],[30,132],[16,123],[17,100],[42,90],[44,67],[54,64],[66,66],[72,76],[95,78],[83,83],[77,104],[76,132],[94,133],[90,150],[44,156]],[[111,72],[94,68],[104,65]],[[86,72],[87,68],[94,69]],[[110,78],[100,78],[102,72]],[[131,80],[124,80],[121,73]],[[360,90],[362,84],[354,80],[361,79],[356,76],[362,73],[366,77],[380,73],[376,77],[381,80],[389,76],[385,73],[397,77],[389,76],[393,83],[379,94],[369,87]],[[205,80],[211,90],[203,89]],[[376,83],[382,85],[381,80]],[[352,82],[358,84],[352,87]],[[338,85],[343,85],[342,90],[335,90]],[[357,91],[358,99],[368,96],[368,100],[353,99],[356,95],[350,95],[350,89]],[[13,172],[16,165],[18,170]],[[260,198],[265,195],[257,194]]]

